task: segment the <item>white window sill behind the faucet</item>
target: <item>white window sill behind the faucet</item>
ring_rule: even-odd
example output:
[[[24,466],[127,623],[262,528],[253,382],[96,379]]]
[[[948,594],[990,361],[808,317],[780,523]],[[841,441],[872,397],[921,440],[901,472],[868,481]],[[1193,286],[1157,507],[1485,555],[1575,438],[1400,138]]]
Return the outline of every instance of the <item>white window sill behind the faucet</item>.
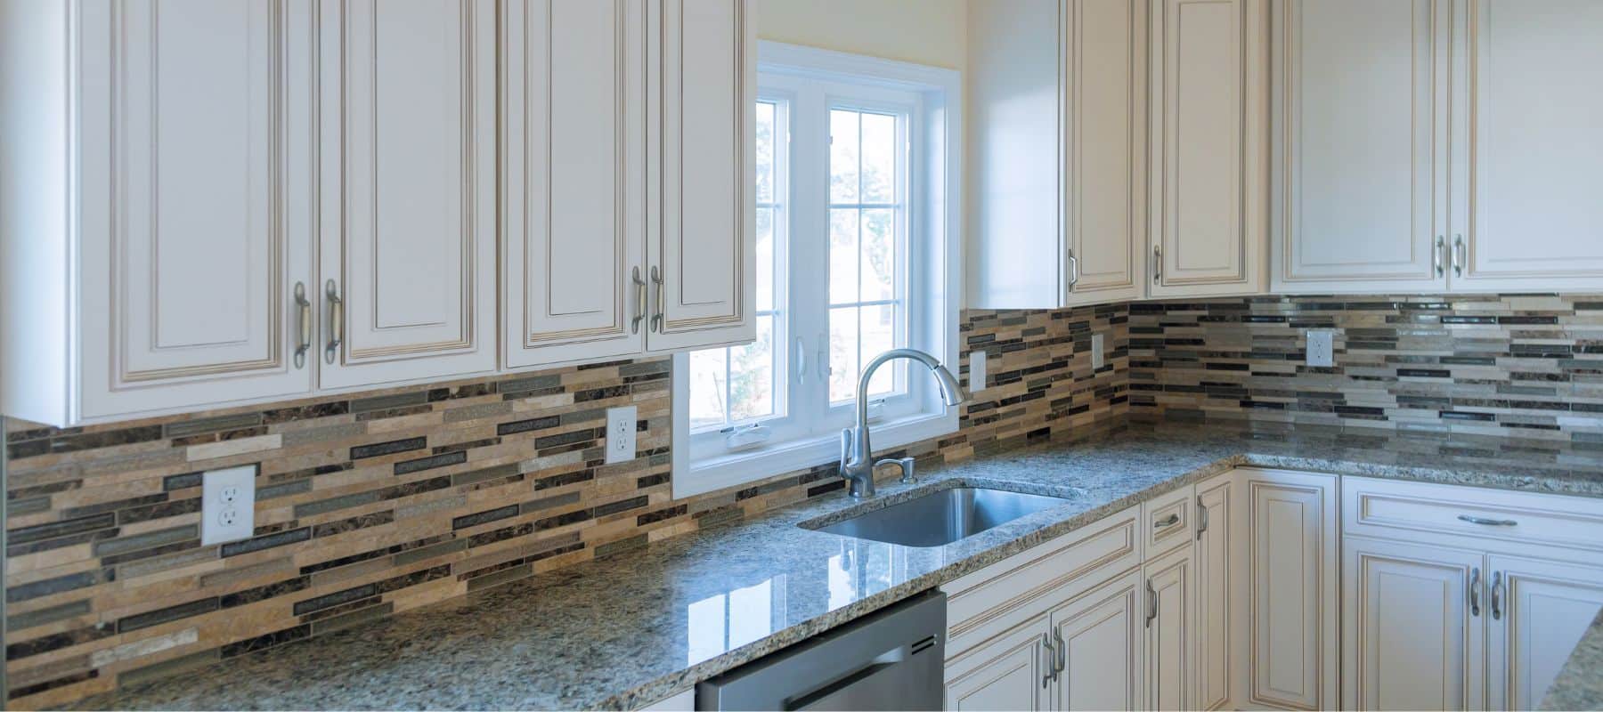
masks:
[[[896,420],[869,423],[875,452],[939,438],[957,431],[957,409],[941,414],[919,414]],[[840,433],[821,438],[792,439],[757,451],[691,460],[675,449],[673,499],[737,487],[789,471],[826,465],[840,459]]]

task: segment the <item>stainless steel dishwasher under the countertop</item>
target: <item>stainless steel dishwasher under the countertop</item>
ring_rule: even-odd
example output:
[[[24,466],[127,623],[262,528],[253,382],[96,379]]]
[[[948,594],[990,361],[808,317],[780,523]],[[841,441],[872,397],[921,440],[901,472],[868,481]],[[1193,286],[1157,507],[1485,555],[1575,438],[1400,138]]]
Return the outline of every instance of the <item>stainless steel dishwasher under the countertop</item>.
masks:
[[[941,709],[946,593],[928,592],[696,685],[696,709]]]

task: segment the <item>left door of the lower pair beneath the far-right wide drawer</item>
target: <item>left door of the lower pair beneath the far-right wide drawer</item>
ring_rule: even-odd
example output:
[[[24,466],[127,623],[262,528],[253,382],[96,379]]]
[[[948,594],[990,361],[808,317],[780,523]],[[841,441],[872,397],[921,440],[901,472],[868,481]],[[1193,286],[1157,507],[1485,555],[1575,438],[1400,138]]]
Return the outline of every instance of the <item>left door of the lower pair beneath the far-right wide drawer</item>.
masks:
[[[1481,709],[1481,553],[1347,537],[1343,709]]]

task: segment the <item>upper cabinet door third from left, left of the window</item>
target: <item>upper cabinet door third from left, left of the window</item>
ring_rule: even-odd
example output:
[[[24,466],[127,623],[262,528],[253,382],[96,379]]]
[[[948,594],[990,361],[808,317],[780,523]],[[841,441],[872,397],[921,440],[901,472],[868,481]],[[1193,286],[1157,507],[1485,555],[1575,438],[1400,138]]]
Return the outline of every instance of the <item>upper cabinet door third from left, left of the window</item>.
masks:
[[[502,0],[508,367],[644,348],[644,2]]]

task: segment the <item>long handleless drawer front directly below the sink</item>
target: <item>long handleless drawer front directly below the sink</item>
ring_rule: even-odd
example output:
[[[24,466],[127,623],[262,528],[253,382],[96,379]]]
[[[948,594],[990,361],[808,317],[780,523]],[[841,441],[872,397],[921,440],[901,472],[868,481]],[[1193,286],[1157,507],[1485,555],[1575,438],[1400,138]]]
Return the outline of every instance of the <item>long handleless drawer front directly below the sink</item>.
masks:
[[[1140,564],[1138,515],[1130,507],[943,585],[947,659]]]

